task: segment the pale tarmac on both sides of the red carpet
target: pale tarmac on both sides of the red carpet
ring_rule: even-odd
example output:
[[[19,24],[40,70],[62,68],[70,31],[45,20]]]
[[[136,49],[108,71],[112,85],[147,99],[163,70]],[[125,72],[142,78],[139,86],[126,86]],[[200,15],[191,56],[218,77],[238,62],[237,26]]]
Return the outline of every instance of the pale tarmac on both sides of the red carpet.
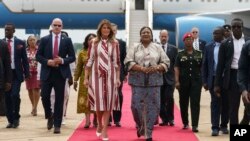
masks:
[[[179,98],[177,91],[175,91],[174,97],[175,103],[178,106]],[[17,129],[7,129],[5,128],[7,125],[6,117],[0,116],[0,141],[67,141],[74,132],[74,130],[84,119],[84,114],[76,113],[76,101],[77,92],[75,92],[73,88],[71,88],[67,116],[65,120],[66,124],[62,125],[61,134],[53,134],[53,129],[47,130],[47,120],[44,119],[44,110],[41,101],[39,101],[38,104],[38,115],[31,115],[32,107],[28,97],[28,92],[26,90],[25,83],[22,83],[20,126]],[[199,121],[199,132],[195,133],[199,141],[229,141],[229,134],[224,135],[220,133],[219,136],[211,136],[210,94],[208,91],[202,91],[200,103],[201,111]],[[242,102],[239,113],[239,119],[241,119],[243,114]],[[122,122],[123,121],[121,121],[121,123]]]

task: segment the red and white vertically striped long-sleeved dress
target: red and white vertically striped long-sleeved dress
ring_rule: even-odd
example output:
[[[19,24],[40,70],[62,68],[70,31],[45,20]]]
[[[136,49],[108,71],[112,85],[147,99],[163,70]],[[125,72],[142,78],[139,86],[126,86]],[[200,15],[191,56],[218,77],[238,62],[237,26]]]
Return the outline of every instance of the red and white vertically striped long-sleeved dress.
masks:
[[[118,41],[92,40],[86,67],[91,67],[88,87],[91,110],[119,110],[119,98],[115,86],[116,69],[120,69]]]

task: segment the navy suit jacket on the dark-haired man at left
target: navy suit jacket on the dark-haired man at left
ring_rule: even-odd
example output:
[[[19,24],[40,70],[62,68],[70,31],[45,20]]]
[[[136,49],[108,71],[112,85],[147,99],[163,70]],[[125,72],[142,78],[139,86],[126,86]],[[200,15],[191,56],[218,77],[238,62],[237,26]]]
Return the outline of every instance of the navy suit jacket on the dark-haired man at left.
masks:
[[[6,41],[6,39],[4,40]],[[16,37],[14,37],[14,63],[17,79],[22,82],[24,77],[28,78],[30,76],[29,62],[25,42]]]

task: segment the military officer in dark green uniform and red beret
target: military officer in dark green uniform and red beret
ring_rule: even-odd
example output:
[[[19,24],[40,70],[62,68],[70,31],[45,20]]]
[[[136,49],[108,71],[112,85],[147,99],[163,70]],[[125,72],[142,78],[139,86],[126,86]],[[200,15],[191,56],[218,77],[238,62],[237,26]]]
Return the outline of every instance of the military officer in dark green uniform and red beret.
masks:
[[[185,48],[177,54],[175,62],[175,87],[179,91],[183,129],[188,129],[188,105],[190,99],[192,131],[198,132],[200,95],[202,88],[202,52],[193,48],[191,33],[183,36]]]

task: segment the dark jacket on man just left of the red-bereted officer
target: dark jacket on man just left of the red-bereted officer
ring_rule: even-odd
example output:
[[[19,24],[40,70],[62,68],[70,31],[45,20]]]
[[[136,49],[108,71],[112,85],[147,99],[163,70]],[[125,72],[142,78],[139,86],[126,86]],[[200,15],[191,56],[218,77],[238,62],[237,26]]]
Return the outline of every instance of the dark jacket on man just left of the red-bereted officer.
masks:
[[[163,84],[168,84],[168,85],[175,84],[174,63],[175,63],[177,53],[178,53],[178,49],[174,45],[171,45],[168,43],[166,54],[170,60],[170,66],[168,66],[168,71],[163,74]]]

